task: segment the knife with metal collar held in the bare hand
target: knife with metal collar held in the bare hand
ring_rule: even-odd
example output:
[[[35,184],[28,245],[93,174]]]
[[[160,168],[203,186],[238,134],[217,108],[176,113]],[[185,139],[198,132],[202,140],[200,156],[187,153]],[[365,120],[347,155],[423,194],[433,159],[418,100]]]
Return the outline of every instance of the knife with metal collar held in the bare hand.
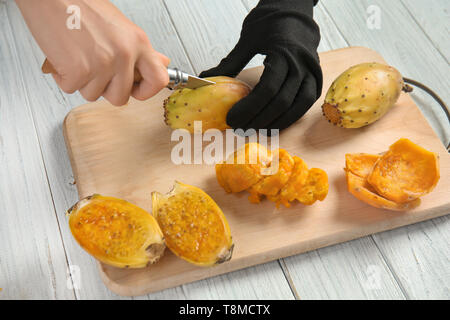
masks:
[[[41,69],[43,73],[56,73],[55,68],[50,61],[48,61],[48,59],[45,59]],[[208,86],[210,84],[215,84],[214,81],[190,75],[189,73],[183,72],[177,68],[167,68],[167,73],[169,74],[169,84],[167,85],[167,88],[171,90],[182,88],[195,89]],[[134,71],[134,82],[139,83],[141,80],[141,73],[136,69]]]

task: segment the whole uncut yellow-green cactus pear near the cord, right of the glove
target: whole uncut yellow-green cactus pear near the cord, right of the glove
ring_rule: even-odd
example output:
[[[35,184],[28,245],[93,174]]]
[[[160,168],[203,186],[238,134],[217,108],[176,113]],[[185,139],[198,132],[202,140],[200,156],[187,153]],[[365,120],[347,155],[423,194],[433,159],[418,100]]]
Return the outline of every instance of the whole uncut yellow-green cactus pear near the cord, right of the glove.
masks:
[[[322,111],[334,125],[360,128],[385,115],[402,90],[410,91],[410,87],[394,67],[376,62],[358,64],[331,84]]]

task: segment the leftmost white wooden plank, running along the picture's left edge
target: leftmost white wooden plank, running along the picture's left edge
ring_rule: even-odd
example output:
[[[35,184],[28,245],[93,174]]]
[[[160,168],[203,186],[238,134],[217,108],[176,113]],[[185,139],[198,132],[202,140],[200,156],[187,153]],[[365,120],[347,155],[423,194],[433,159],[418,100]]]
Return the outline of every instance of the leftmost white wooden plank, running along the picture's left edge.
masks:
[[[14,36],[0,2],[0,299],[71,299]]]

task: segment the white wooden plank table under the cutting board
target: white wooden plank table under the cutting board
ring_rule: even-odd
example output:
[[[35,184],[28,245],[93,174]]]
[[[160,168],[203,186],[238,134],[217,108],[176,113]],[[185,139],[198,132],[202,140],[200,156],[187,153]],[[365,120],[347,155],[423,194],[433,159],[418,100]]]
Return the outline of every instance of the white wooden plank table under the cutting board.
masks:
[[[114,3],[172,65],[199,73],[233,47],[257,0]],[[380,29],[367,26],[370,5]],[[321,0],[319,50],[373,48],[448,103],[449,10],[448,0]],[[77,192],[62,121],[84,101],[42,75],[42,62],[14,2],[0,0],[0,299],[129,299],[104,287],[67,226]],[[412,96],[447,143],[444,113]],[[449,230],[444,216],[135,299],[449,299]]]

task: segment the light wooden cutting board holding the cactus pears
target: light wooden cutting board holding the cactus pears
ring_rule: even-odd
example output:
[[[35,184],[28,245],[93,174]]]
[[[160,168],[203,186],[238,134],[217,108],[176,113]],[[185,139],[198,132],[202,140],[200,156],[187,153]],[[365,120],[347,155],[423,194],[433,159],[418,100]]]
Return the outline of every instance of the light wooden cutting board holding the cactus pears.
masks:
[[[351,47],[320,55],[323,95],[351,65],[384,62],[375,51]],[[239,76],[257,83],[262,67]],[[420,79],[419,79],[420,80]],[[218,185],[213,165],[175,165],[171,130],[163,122],[164,90],[152,99],[132,100],[126,107],[97,101],[73,109],[64,121],[64,135],[80,198],[93,193],[115,196],[151,211],[150,193],[168,192],[174,180],[205,190],[228,218],[235,249],[233,258],[216,267],[191,265],[166,250],[144,269],[117,269],[100,264],[106,286],[120,295],[142,295],[183,283],[268,262],[376,232],[442,216],[450,212],[450,156],[413,100],[402,93],[397,106],[376,123],[361,129],[329,124],[321,113],[323,95],[311,110],[280,135],[280,147],[303,158],[309,167],[327,171],[330,190],[323,202],[276,209],[267,200],[250,204],[247,194],[227,194]],[[405,137],[439,153],[441,180],[423,197],[419,208],[398,213],[376,209],[347,192],[344,155],[379,153]]]

